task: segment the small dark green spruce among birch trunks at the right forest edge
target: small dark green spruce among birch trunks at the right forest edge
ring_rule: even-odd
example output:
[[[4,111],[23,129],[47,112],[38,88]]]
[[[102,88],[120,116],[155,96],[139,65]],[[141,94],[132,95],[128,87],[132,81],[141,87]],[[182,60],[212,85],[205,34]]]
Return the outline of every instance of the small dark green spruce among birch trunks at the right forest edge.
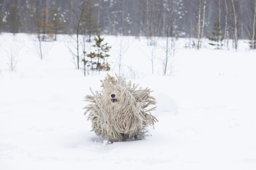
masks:
[[[212,37],[207,37],[210,41],[216,42],[216,43],[209,43],[210,45],[217,45],[217,49],[220,49],[220,46],[222,47],[222,41],[224,39],[224,33],[221,33],[222,27],[220,26],[219,21],[214,23]],[[219,44],[221,43],[221,44]]]

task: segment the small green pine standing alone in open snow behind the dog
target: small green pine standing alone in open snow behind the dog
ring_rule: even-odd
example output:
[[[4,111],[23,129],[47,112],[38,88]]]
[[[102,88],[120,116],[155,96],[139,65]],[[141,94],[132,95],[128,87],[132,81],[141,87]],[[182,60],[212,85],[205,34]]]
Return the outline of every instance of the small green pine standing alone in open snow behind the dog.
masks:
[[[95,48],[95,52],[92,52],[87,55],[87,57],[91,58],[91,66],[93,69],[93,64],[97,64],[96,70],[110,70],[110,66],[107,62],[105,62],[106,57],[109,57],[109,54],[106,54],[109,52],[109,49],[111,48],[108,46],[108,43],[102,44],[104,38],[101,38],[100,35],[97,35],[97,37],[94,38],[95,44],[92,45],[92,47]],[[93,62],[93,59],[96,59],[97,62]],[[101,64],[101,61],[103,60],[103,64]]]

